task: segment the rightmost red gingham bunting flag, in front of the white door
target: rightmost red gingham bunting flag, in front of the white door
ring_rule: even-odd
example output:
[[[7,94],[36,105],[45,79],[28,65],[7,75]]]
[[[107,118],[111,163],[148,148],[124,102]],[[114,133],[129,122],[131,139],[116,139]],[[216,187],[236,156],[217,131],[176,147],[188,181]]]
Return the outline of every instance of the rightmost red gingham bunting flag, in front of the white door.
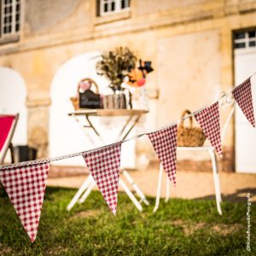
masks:
[[[242,84],[236,86],[234,90],[232,90],[232,94],[238,106],[241,108],[241,111],[247,117],[247,120],[255,127],[251,80],[247,79]]]

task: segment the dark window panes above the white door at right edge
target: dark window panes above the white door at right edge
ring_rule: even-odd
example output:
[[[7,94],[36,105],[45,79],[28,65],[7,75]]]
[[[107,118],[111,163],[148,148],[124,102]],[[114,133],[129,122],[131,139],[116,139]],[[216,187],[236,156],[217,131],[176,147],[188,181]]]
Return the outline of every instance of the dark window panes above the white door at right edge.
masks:
[[[256,47],[256,29],[234,33],[235,49],[251,49]]]

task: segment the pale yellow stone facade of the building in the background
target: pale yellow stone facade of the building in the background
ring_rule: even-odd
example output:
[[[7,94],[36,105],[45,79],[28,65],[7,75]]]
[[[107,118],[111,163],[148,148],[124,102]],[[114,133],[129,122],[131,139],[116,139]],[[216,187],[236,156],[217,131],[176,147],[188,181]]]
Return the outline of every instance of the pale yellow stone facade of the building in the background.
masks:
[[[27,139],[40,158],[48,155],[50,84],[74,55],[122,45],[153,61],[150,129],[228,90],[234,84],[233,33],[256,26],[251,0],[131,0],[130,8],[110,15],[101,15],[101,2],[20,0],[19,32],[0,38],[0,66],[26,82]],[[233,121],[224,140],[225,170],[234,171],[234,133]],[[137,152],[154,155],[143,141]]]

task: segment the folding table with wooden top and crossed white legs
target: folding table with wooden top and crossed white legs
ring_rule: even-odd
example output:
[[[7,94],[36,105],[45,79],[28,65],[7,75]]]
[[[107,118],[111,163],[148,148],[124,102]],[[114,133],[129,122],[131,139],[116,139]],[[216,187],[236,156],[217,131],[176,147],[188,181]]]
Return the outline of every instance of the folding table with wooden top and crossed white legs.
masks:
[[[130,134],[133,128],[137,125],[139,119],[141,119],[142,115],[148,113],[148,110],[143,109],[79,109],[72,113],[68,113],[69,116],[73,116],[74,118],[78,116],[84,116],[87,121],[86,125],[83,125],[84,128],[92,129],[98,137],[102,139],[102,143],[104,143],[104,138],[100,131],[96,129],[96,125],[93,124],[93,120],[91,117],[125,117],[126,121],[123,127],[121,127],[121,131],[119,132],[119,136],[117,141],[125,140],[125,138]],[[79,119],[77,119],[79,121]],[[133,189],[137,192],[137,195],[140,197],[140,201],[137,201],[137,198],[131,193],[131,190],[126,186],[124,181],[120,178],[119,184],[125,190],[125,193],[130,197],[131,201],[137,207],[137,209],[141,212],[143,211],[143,207],[141,202],[148,205],[148,201],[143,194],[142,190],[138,188],[137,184],[131,178],[131,175],[127,170],[121,171],[127,181],[131,184]],[[82,203],[85,199],[90,195],[90,191],[95,187],[96,183],[91,177],[91,175],[84,181],[82,186],[76,195],[74,195],[73,200],[67,206],[67,210],[70,211],[76,202]]]

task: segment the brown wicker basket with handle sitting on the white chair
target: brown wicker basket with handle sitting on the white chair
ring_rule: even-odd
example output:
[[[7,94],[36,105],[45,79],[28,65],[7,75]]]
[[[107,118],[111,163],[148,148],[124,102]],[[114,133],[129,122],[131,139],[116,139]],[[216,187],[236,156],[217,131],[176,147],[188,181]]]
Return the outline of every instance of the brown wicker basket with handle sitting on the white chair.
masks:
[[[186,114],[190,114],[189,110],[185,110],[182,114],[184,117]],[[189,127],[184,126],[184,120],[177,127],[177,146],[178,147],[201,147],[206,136],[199,127],[193,127],[192,116],[189,117]]]

